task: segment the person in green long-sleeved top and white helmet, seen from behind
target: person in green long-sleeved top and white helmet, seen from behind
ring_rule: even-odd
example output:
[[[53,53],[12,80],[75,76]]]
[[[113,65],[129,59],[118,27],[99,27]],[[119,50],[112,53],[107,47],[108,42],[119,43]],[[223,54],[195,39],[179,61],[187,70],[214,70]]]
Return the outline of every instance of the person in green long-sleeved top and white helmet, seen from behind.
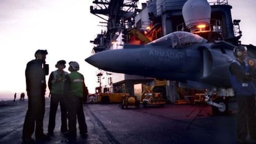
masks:
[[[83,75],[77,72],[79,64],[75,61],[69,62],[70,74],[66,76],[64,93],[67,96],[67,117],[69,119],[69,133],[66,135],[69,140],[77,137],[77,121],[79,122],[80,135],[87,137],[87,124],[83,113],[83,98],[86,95]]]

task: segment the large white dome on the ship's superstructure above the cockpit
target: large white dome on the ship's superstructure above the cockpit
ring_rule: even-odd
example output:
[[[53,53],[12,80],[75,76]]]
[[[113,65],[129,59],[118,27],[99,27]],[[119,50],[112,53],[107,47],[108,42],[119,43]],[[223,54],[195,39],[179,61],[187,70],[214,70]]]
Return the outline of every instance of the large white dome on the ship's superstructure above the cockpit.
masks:
[[[211,6],[207,0],[188,0],[182,7],[182,15],[188,28],[198,23],[210,24]]]

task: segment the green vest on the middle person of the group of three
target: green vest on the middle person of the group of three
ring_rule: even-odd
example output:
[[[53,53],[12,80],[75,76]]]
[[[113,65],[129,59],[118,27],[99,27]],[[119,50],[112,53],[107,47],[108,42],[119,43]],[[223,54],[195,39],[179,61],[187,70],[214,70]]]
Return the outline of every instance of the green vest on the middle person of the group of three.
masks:
[[[62,73],[62,75],[59,74],[58,70],[53,71],[53,79],[51,80],[51,93],[63,94],[64,81],[67,74],[68,73],[65,71]]]

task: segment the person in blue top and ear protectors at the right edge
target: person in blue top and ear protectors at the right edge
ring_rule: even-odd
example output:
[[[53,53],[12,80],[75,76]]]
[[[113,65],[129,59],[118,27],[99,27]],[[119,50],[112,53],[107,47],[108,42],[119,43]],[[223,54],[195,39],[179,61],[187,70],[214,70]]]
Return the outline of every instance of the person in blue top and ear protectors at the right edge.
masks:
[[[234,60],[230,67],[230,80],[237,97],[237,138],[239,143],[246,143],[247,131],[250,138],[256,139],[255,93],[252,78],[256,78],[255,70],[248,66],[244,59],[247,48],[234,48]],[[248,128],[248,130],[247,130]]]

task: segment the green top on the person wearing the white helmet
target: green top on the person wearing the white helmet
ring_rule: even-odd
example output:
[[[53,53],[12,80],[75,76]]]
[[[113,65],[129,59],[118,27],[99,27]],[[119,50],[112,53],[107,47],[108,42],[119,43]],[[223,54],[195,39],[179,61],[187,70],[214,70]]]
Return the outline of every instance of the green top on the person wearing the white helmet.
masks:
[[[71,72],[69,74],[70,77],[70,92],[75,95],[83,98],[83,85],[84,85],[84,78],[83,75],[79,72]]]

